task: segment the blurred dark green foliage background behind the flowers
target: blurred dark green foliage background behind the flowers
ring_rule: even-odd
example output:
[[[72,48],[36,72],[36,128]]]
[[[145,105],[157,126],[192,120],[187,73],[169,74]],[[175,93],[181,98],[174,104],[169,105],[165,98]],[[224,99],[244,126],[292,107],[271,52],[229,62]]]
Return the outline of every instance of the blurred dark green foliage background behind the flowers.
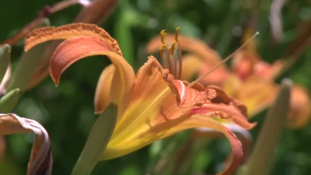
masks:
[[[59,1],[1,1],[0,41],[19,31],[32,21],[45,5]],[[256,38],[258,52],[266,61],[273,62],[286,54],[286,49],[299,34],[299,28],[311,21],[311,3],[307,0],[287,1],[282,8],[283,39],[274,41],[269,21],[273,1],[227,0],[124,0],[101,25],[115,37],[124,57],[137,70],[146,60],[145,45],[162,29],[206,41],[221,57],[226,57],[241,44],[243,31],[252,26],[260,32]],[[72,6],[49,19],[53,26],[70,23],[80,11]],[[311,34],[311,31],[310,31]],[[23,42],[12,47],[12,61],[18,60]],[[307,48],[299,60],[282,77],[311,91],[311,51]],[[97,79],[107,59],[94,57],[78,61],[67,70],[58,88],[48,77],[36,88],[25,93],[14,113],[35,119],[46,127],[52,141],[53,174],[70,174],[97,116],[94,115],[93,97]],[[253,118],[259,121],[251,130],[256,139],[264,112]],[[189,132],[177,134],[127,156],[100,162],[93,174],[145,174],[151,172],[160,159],[172,154],[186,141]],[[301,129],[285,129],[275,152],[271,174],[311,174],[311,125]],[[26,174],[32,146],[32,135],[7,136],[7,151],[0,162],[0,174]],[[198,141],[199,148],[191,160],[188,172],[215,173],[230,152],[226,139]],[[188,159],[187,157],[185,159]]]

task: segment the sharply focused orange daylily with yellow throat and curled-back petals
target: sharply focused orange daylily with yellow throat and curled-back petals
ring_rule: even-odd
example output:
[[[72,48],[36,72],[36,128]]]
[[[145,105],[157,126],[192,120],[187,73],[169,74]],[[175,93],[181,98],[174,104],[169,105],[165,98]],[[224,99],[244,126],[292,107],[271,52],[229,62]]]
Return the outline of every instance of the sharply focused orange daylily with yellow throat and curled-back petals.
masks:
[[[232,147],[232,162],[221,174],[231,174],[237,168],[242,159],[241,143],[219,121],[233,122],[245,129],[255,124],[247,121],[246,107],[221,88],[200,83],[189,86],[188,82],[174,78],[180,77],[182,71],[176,59],[171,59],[180,54],[178,40],[169,49],[162,48],[169,69],[149,56],[135,74],[117,41],[96,25],[79,23],[34,30],[26,37],[25,50],[53,39],[66,39],[50,59],[50,75],[56,85],[61,74],[79,59],[105,55],[112,61],[99,78],[94,100],[97,113],[103,112],[109,102],[119,108],[116,127],[102,152],[102,160],[129,154],[181,130],[207,127],[223,133]]]

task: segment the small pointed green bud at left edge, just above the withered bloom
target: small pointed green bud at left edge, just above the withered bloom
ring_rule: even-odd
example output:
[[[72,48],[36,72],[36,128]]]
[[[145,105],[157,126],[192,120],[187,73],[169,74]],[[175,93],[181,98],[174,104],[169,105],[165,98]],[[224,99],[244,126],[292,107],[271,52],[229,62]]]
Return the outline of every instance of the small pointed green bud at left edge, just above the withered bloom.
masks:
[[[14,89],[0,99],[0,113],[10,113],[16,106],[23,92]]]

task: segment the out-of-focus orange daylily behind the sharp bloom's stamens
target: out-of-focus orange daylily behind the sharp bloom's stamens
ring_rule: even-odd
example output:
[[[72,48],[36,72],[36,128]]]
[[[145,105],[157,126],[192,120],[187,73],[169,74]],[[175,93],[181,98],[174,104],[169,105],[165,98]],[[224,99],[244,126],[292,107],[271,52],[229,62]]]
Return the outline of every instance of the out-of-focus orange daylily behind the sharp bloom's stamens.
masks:
[[[249,34],[250,32],[247,32],[245,39],[250,37]],[[173,34],[168,34],[169,42],[173,41],[173,36]],[[219,55],[206,43],[187,36],[180,36],[180,38],[182,48],[189,52],[184,60],[187,64],[183,65],[186,71],[183,72],[182,77],[186,80],[190,80],[195,75],[203,75],[221,60]],[[147,45],[147,52],[156,52],[160,46],[161,38],[154,37]],[[193,67],[189,65],[193,65]],[[255,49],[255,43],[249,42],[246,48],[235,54],[231,69],[223,65],[221,69],[214,71],[200,82],[205,85],[222,86],[229,95],[246,104],[249,117],[251,117],[270,106],[274,101],[278,85],[273,79],[283,66],[282,60],[277,60],[272,64],[262,61]],[[301,86],[294,86],[291,94],[287,126],[302,127],[310,117],[310,99],[307,91]]]

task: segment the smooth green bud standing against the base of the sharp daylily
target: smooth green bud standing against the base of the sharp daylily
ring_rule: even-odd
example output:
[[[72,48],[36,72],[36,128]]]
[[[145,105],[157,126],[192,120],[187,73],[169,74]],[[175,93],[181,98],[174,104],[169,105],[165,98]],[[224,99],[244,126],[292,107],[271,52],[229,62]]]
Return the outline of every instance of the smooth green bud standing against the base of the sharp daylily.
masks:
[[[113,134],[117,114],[118,106],[110,103],[103,114],[96,120],[71,173],[72,175],[91,174]]]

